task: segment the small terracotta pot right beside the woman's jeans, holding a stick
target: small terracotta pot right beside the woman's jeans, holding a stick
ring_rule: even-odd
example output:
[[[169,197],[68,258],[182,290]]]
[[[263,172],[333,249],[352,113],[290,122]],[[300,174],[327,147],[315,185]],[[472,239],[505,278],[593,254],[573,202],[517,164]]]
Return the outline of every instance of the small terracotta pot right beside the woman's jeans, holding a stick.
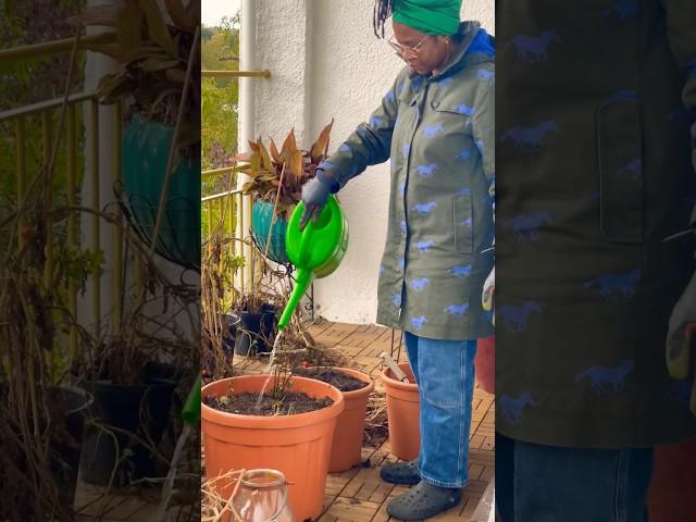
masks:
[[[387,396],[389,445],[394,456],[401,460],[413,460],[421,447],[421,403],[411,366],[408,362],[401,362],[399,368],[409,377],[409,383],[397,381],[387,368],[382,371],[382,382]]]

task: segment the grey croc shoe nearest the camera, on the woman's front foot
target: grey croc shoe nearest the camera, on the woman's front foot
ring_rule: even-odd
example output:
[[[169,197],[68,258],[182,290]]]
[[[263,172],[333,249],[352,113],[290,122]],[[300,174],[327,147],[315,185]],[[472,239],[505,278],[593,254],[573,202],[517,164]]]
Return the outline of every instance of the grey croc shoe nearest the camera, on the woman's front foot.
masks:
[[[425,520],[461,502],[461,489],[438,487],[421,481],[387,504],[387,513],[403,521]]]

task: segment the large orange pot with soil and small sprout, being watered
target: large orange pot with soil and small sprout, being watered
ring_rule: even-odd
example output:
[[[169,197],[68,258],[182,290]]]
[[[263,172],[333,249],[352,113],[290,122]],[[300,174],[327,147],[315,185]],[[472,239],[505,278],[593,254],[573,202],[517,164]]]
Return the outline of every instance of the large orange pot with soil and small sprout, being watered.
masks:
[[[289,483],[297,520],[322,512],[336,419],[344,409],[337,388],[297,377],[281,357],[270,375],[212,382],[201,390],[201,430],[208,478],[232,470],[270,468]],[[216,489],[225,498],[229,481]]]

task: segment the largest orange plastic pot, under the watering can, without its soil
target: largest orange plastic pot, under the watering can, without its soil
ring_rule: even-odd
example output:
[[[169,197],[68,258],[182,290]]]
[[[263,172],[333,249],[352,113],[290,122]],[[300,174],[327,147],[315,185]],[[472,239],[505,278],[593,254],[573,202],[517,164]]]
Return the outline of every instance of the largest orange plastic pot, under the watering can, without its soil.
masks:
[[[259,393],[266,377],[223,378],[204,386],[201,395]],[[266,389],[272,387],[270,382]],[[314,398],[330,397],[334,403],[308,413],[277,417],[237,415],[201,405],[201,430],[209,478],[231,470],[277,470],[287,480],[296,520],[303,521],[318,519],[322,512],[331,445],[344,397],[337,388],[311,378],[293,377],[291,389]],[[221,484],[217,490],[226,497],[232,484]]]

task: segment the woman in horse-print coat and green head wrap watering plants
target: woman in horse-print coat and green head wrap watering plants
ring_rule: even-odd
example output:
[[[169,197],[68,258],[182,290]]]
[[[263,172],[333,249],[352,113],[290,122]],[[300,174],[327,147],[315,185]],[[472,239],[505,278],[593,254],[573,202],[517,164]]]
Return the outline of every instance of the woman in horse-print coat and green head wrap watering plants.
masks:
[[[458,505],[467,472],[476,339],[493,333],[481,306],[493,268],[494,50],[461,0],[377,1],[375,34],[393,13],[390,46],[407,62],[369,123],[302,190],[303,223],[368,165],[390,159],[387,241],[377,322],[405,332],[421,394],[418,462],[385,465],[418,484],[389,502],[401,520]]]

